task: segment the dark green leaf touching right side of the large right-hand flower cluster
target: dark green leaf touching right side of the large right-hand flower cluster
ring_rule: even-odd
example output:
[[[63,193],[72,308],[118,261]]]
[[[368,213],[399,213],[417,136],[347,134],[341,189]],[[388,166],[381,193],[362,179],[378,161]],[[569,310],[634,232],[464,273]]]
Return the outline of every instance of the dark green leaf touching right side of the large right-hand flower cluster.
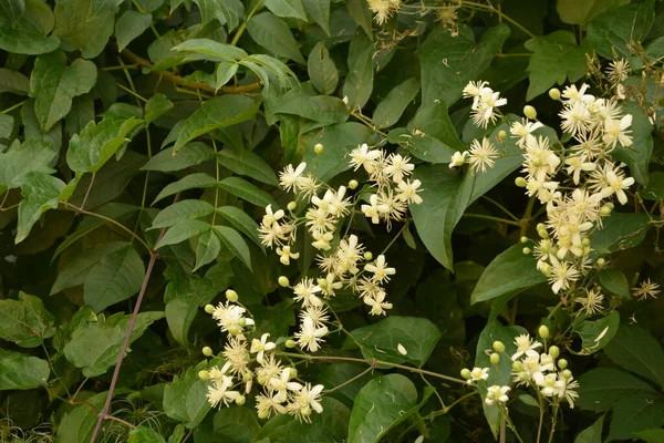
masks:
[[[591,247],[600,255],[633,248],[643,241],[650,228],[643,213],[613,213],[602,220],[602,229],[592,235]]]

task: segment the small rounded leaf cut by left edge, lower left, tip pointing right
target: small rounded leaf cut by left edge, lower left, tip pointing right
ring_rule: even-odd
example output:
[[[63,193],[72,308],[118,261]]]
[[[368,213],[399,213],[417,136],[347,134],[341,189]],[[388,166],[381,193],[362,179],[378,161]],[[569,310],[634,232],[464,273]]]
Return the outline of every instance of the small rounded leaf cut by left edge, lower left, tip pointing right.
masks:
[[[46,384],[50,374],[48,361],[0,349],[0,391],[39,388]]]

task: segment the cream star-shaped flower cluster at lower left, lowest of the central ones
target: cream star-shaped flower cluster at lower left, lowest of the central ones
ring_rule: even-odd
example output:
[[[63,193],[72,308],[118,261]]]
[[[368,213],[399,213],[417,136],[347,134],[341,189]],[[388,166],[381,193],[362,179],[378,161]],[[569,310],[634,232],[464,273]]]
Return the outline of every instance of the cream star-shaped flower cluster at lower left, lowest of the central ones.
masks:
[[[224,365],[214,365],[198,374],[201,380],[211,382],[208,402],[212,408],[245,404],[256,380],[261,391],[256,395],[259,418],[268,419],[276,412],[310,421],[312,411],[321,413],[323,385],[299,382],[295,368],[284,365],[276,357],[277,344],[269,341],[270,334],[257,333],[253,320],[247,317],[247,309],[237,302],[238,295],[232,290],[226,293],[226,303],[206,306],[206,312],[211,313],[221,331],[228,334],[221,352]],[[211,357],[212,350],[204,348],[204,354]]]

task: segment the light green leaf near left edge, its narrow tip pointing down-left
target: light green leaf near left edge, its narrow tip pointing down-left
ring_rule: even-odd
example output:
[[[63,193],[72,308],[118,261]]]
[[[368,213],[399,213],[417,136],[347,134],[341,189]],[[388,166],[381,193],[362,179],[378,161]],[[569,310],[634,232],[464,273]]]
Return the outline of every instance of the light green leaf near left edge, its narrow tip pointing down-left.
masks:
[[[21,190],[23,198],[19,204],[19,223],[14,243],[18,245],[30,234],[43,213],[58,207],[58,197],[65,184],[60,178],[43,173],[25,174]]]

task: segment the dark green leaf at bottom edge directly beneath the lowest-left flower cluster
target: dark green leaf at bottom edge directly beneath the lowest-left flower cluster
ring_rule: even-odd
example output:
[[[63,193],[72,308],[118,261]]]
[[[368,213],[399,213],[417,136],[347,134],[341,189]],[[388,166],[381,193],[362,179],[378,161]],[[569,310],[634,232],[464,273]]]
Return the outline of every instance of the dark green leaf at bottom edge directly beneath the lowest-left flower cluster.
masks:
[[[273,416],[252,441],[270,443],[345,441],[351,411],[343,403],[326,395],[323,395],[321,405],[323,413],[312,413],[311,423],[301,422],[292,415]]]

